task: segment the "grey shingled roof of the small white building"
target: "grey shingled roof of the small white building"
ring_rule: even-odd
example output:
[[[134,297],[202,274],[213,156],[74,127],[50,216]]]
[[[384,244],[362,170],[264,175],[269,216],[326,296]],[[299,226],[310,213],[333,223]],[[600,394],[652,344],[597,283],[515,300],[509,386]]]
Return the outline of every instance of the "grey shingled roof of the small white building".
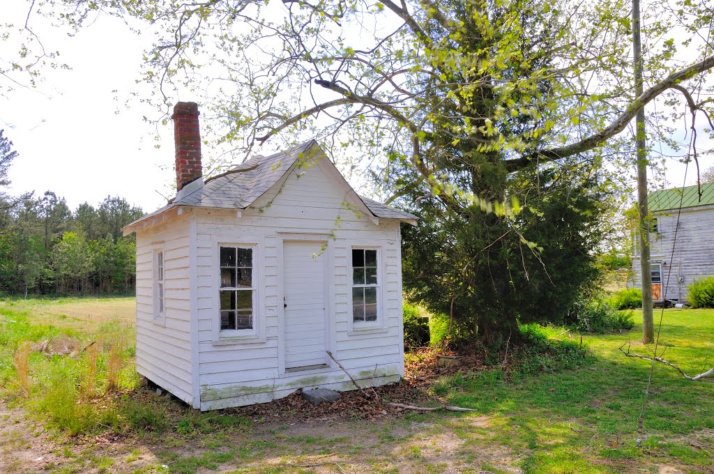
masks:
[[[313,146],[318,147],[318,144],[315,140],[310,140],[270,156],[253,156],[226,173],[208,178],[200,188],[176,200],[169,201],[163,208],[130,223],[126,228],[176,206],[236,210],[248,208],[268,189],[278,183],[293,165],[296,165],[301,159],[307,160],[309,157],[306,156],[306,153]],[[358,196],[358,198],[375,217],[401,221],[416,221],[418,219],[411,213],[386,206],[372,199],[363,196]]]

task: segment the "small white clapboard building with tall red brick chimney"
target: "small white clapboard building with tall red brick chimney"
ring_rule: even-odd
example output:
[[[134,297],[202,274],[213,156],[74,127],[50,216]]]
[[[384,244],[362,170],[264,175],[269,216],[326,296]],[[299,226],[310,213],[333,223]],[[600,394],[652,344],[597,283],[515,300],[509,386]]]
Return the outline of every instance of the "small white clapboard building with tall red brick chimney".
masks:
[[[402,222],[315,141],[203,181],[198,107],[174,108],[176,198],[136,232],[136,370],[201,410],[404,374]]]

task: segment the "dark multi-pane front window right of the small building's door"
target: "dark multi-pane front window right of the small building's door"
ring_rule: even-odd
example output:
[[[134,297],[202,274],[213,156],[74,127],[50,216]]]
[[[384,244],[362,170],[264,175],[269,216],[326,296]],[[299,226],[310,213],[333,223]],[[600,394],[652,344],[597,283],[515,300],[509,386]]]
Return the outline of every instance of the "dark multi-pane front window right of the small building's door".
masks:
[[[353,321],[377,321],[379,282],[376,249],[353,248],[351,265]]]

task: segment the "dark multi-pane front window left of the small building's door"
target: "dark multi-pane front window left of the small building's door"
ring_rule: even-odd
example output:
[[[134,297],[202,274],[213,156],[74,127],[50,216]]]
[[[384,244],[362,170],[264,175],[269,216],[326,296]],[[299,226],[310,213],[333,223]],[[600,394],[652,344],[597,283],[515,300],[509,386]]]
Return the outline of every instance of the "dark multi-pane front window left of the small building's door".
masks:
[[[253,329],[253,249],[221,246],[221,330]]]

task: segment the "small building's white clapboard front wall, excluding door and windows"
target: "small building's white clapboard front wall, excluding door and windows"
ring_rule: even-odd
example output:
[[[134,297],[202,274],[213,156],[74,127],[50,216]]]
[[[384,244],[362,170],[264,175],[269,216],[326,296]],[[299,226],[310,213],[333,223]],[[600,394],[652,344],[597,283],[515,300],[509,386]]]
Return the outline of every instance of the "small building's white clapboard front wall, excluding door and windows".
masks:
[[[364,383],[388,383],[403,375],[398,221],[375,223],[346,209],[345,189],[321,166],[311,166],[299,176],[288,173],[273,191],[240,216],[218,209],[193,209],[198,232],[198,367],[203,410],[265,402],[296,388],[354,388],[333,363],[328,368],[296,373],[281,370],[285,365],[281,347],[283,241],[311,239],[311,235],[328,242],[328,350]],[[330,238],[331,234],[334,238]],[[261,329],[256,338],[246,341],[216,341],[218,243],[246,242],[255,242],[258,248],[253,265],[259,278],[257,311]],[[384,324],[372,331],[348,331],[348,268],[353,245],[381,249]]]

